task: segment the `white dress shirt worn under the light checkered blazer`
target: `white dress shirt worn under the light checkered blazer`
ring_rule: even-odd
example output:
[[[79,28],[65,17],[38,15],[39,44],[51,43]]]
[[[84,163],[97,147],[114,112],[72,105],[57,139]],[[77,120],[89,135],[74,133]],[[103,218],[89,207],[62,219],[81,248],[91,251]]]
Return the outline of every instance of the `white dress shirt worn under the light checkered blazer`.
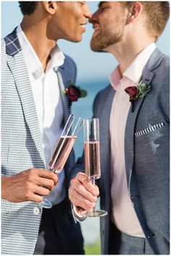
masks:
[[[57,46],[54,47],[51,50],[51,58],[46,66],[46,71],[43,72],[41,61],[20,25],[17,27],[17,36],[28,68],[47,165],[62,133],[63,105],[55,71],[64,63],[64,55]],[[64,172],[61,172],[58,177],[57,187],[53,188],[49,196],[46,197],[52,204],[59,204],[66,196]]]

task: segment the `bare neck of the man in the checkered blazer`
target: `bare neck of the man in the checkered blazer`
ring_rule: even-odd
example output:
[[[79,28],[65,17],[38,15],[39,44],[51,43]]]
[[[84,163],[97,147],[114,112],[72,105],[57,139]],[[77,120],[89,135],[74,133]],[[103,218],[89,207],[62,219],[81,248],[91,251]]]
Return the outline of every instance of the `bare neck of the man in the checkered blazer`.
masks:
[[[49,14],[40,5],[32,15],[25,15],[21,23],[25,36],[41,61],[43,71],[46,70],[51,49],[56,45],[56,41],[47,36],[49,18]]]

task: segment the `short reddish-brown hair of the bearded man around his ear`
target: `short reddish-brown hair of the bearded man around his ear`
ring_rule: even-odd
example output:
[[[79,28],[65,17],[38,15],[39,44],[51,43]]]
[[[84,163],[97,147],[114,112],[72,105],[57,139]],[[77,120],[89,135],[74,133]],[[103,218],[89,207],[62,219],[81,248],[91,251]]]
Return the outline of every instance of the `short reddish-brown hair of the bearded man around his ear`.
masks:
[[[170,17],[169,1],[140,1],[143,5],[143,12],[146,15],[146,29],[155,40],[164,31],[167,20]],[[135,1],[122,1],[125,7],[129,8]]]

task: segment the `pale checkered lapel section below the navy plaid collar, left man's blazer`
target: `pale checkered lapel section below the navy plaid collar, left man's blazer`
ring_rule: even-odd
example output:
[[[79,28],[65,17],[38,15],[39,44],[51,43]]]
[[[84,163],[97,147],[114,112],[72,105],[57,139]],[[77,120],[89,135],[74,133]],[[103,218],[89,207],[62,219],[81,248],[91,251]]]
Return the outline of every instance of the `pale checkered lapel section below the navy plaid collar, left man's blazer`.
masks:
[[[30,133],[33,137],[36,148],[40,153],[41,159],[45,164],[41,132],[39,130],[38,117],[36,115],[36,105],[33,99],[33,92],[28,77],[28,70],[25,65],[22,51],[18,52],[17,55],[14,55],[14,57],[10,57],[9,60],[7,60],[7,63],[14,76],[25,121],[30,129]]]

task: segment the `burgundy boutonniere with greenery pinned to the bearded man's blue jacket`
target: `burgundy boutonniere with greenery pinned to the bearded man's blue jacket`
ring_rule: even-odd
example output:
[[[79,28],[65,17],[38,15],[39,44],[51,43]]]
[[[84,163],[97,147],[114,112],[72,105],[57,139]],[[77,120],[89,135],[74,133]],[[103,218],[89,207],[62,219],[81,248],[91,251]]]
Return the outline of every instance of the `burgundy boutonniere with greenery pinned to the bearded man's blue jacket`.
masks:
[[[128,93],[131,103],[131,112],[134,111],[135,100],[138,100],[139,97],[146,96],[151,90],[151,85],[146,84],[143,81],[137,84],[137,87],[127,87],[125,92]]]

